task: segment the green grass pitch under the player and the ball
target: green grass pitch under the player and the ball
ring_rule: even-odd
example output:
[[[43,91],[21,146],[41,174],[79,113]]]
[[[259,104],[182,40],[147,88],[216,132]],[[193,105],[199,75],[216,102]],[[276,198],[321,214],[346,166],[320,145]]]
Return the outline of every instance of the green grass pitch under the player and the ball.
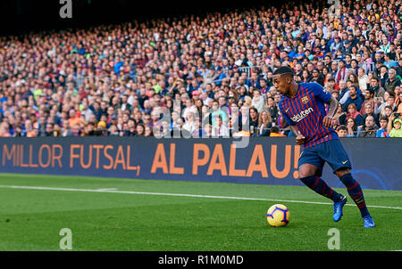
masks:
[[[402,249],[402,192],[364,191],[369,206],[391,207],[369,208],[377,224],[372,229],[363,227],[356,206],[345,207],[334,223],[331,204],[297,202],[281,202],[290,210],[290,223],[273,228],[266,210],[274,201],[4,185],[331,201],[306,187],[256,184],[0,174],[0,185],[0,250],[60,250],[62,228],[71,229],[72,250],[329,250],[331,228],[339,229],[340,250]]]

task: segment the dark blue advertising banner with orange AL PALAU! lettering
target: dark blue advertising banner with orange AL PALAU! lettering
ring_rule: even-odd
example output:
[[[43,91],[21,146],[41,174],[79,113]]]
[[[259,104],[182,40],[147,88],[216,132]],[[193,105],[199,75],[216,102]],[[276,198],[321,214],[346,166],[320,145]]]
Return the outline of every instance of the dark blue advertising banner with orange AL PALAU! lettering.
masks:
[[[365,189],[402,190],[402,139],[342,138],[353,175]],[[93,175],[225,183],[303,185],[294,138],[232,139],[37,137],[0,139],[3,173]],[[322,178],[343,187],[331,167]]]

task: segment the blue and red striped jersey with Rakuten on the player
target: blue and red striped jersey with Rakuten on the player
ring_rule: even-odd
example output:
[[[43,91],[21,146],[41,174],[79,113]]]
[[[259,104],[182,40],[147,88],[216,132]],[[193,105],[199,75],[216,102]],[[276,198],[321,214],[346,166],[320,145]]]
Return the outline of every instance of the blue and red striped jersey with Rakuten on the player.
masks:
[[[294,98],[282,96],[281,114],[289,125],[297,126],[306,137],[305,149],[339,139],[334,128],[322,126],[322,119],[327,115],[325,104],[330,100],[331,94],[315,82],[300,83]]]

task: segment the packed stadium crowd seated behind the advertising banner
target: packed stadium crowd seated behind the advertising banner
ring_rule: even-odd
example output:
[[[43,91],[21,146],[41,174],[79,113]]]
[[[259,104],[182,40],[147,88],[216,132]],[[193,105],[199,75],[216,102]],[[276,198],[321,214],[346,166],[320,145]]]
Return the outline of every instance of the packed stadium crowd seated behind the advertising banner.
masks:
[[[402,137],[401,15],[348,0],[0,37],[0,136],[287,136],[289,65],[339,100],[339,136]]]

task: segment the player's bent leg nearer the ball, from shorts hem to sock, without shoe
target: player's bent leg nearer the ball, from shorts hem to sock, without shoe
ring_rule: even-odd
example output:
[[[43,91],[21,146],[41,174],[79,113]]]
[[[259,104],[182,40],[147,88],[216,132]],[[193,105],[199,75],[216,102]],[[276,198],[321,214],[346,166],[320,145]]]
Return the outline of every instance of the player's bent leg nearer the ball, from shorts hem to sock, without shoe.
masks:
[[[315,147],[314,147],[315,148]],[[338,202],[343,196],[331,189],[322,178],[323,160],[317,156],[316,149],[302,151],[298,159],[298,175],[300,181],[314,192]]]

